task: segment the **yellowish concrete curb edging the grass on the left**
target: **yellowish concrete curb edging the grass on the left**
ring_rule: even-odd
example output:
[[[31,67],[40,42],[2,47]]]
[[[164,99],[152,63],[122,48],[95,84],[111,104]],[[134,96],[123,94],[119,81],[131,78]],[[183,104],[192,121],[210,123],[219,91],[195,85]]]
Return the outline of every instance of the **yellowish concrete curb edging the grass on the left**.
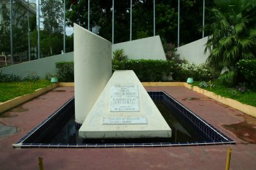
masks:
[[[19,104],[25,103],[26,101],[29,101],[35,97],[38,97],[41,94],[48,92],[49,90],[55,89],[56,87],[58,87],[58,83],[49,85],[42,89],[37,89],[31,94],[25,94],[24,96],[15,97],[14,99],[10,99],[8,101],[0,103],[0,113],[3,113],[6,110],[10,110],[11,108],[18,106]]]

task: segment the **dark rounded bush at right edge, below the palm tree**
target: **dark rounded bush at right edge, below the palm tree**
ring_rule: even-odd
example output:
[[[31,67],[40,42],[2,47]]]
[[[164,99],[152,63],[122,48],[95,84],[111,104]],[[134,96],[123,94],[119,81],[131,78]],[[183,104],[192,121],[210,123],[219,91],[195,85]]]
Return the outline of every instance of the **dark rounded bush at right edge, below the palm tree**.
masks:
[[[236,64],[239,81],[246,82],[249,86],[256,85],[256,60],[239,60]]]

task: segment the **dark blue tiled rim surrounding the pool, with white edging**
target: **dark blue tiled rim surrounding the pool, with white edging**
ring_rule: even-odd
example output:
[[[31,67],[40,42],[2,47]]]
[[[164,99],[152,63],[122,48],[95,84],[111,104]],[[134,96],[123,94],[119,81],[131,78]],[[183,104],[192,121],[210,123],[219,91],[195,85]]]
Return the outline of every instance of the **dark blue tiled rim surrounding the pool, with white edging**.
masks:
[[[208,124],[204,119],[198,117],[195,113],[188,110],[188,108],[182,106],[178,101],[173,99],[165,92],[148,92],[150,97],[153,99],[164,99],[172,108],[179,111],[179,113],[185,118],[186,121],[195,125],[199,131],[203,132],[209,137],[209,141],[195,141],[190,143],[106,143],[106,144],[45,144],[45,143],[25,143],[26,139],[32,138],[32,140],[37,138],[37,133],[42,133],[40,129],[45,131],[45,122],[49,121],[52,117],[60,117],[63,110],[67,110],[70,104],[74,103],[74,97],[65,103],[59,110],[55,111],[46,120],[39,124],[35,129],[33,129],[29,134],[26,134],[18,143],[13,146],[19,148],[127,148],[127,147],[164,147],[164,146],[205,146],[205,145],[223,145],[223,144],[236,144],[232,139],[228,138],[211,124]],[[59,116],[58,116],[59,115]],[[52,119],[56,121],[56,118]],[[47,124],[49,125],[49,124]],[[44,132],[43,131],[43,132]],[[47,131],[47,130],[46,130]],[[35,134],[33,136],[33,134]],[[22,143],[24,142],[24,143]],[[21,145],[20,145],[21,144]]]

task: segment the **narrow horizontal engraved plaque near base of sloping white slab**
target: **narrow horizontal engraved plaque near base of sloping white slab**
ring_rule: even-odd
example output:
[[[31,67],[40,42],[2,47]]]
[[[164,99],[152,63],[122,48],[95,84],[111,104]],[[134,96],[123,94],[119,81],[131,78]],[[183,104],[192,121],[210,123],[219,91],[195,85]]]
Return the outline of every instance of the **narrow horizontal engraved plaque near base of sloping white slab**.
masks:
[[[103,117],[103,125],[148,124],[147,117]]]

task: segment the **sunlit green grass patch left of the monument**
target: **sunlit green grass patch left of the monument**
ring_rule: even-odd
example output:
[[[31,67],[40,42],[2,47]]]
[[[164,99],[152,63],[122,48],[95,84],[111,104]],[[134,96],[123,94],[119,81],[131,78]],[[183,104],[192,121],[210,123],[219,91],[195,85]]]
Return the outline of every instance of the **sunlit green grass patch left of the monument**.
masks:
[[[31,94],[36,89],[51,85],[49,80],[0,83],[0,102]]]

